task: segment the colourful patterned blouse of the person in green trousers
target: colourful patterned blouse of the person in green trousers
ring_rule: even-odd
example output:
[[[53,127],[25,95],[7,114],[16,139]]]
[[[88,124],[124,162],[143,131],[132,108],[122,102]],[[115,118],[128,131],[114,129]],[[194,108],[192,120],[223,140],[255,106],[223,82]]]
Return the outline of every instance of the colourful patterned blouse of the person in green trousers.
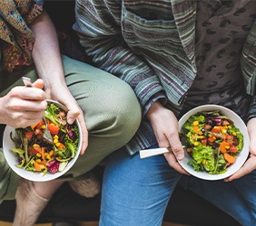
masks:
[[[42,13],[42,0],[0,0],[0,71],[32,63],[34,34],[28,27]]]

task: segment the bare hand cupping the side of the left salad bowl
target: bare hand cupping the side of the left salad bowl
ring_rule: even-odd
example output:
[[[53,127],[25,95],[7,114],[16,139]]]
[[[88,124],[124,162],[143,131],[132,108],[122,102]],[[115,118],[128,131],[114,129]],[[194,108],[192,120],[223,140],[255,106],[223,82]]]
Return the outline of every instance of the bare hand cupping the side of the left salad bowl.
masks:
[[[75,119],[78,120],[83,137],[80,155],[84,155],[84,151],[88,146],[88,130],[85,125],[84,112],[78,106],[65,83],[59,83],[55,86],[52,85],[51,88],[46,86],[45,92],[48,99],[59,101],[68,109],[66,116],[68,124],[73,124]]]

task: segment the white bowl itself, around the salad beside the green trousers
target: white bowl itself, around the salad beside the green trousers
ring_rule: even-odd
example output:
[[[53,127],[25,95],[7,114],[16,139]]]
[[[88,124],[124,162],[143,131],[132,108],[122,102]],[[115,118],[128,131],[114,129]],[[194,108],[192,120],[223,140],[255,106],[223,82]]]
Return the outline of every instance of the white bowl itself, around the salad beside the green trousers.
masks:
[[[49,104],[54,103],[55,105],[57,105],[58,107],[60,107],[66,111],[66,108],[61,103],[59,103],[55,100],[47,99],[47,102]],[[10,137],[11,133],[13,134],[13,137],[16,137],[15,127],[6,126],[5,131],[4,131],[4,137],[3,137],[3,149],[4,149],[5,159],[8,163],[8,165],[10,165],[10,167],[16,174],[20,175],[21,177],[23,177],[27,180],[34,181],[34,182],[51,181],[51,180],[54,180],[54,179],[60,177],[61,175],[65,174],[65,173],[67,173],[68,170],[74,165],[75,161],[77,160],[77,158],[80,154],[81,146],[82,146],[82,137],[81,137],[82,131],[81,131],[80,124],[79,124],[78,120],[75,120],[74,123],[77,125],[78,130],[79,130],[79,142],[78,142],[78,146],[77,146],[77,151],[74,155],[74,158],[69,161],[69,163],[65,166],[63,171],[59,171],[55,174],[51,174],[48,172],[46,174],[43,174],[43,173],[27,171],[23,167],[20,168],[20,167],[15,166],[18,163],[17,156],[12,151],[12,149],[15,148],[15,144]]]

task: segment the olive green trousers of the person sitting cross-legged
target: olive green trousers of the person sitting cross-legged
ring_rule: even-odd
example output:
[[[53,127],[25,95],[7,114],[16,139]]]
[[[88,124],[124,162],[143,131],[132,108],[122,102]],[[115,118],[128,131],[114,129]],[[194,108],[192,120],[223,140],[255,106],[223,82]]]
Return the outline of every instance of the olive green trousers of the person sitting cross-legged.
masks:
[[[84,155],[79,156],[62,178],[83,179],[104,157],[124,146],[133,137],[141,122],[141,108],[133,89],[123,80],[66,56],[63,56],[63,64],[67,86],[84,111],[89,142]],[[33,81],[37,79],[34,69],[24,76]],[[24,85],[21,79],[3,90],[0,96],[3,97],[17,85]],[[6,164],[2,151],[0,172],[0,202],[14,199],[19,177]]]

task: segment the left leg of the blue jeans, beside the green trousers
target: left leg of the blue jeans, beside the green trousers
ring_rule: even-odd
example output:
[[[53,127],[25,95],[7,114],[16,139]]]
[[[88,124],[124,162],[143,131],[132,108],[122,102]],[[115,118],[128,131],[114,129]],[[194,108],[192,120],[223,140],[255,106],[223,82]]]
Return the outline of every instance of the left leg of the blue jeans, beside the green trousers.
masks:
[[[181,176],[163,155],[140,159],[124,151],[113,153],[106,160],[100,225],[162,225]]]

